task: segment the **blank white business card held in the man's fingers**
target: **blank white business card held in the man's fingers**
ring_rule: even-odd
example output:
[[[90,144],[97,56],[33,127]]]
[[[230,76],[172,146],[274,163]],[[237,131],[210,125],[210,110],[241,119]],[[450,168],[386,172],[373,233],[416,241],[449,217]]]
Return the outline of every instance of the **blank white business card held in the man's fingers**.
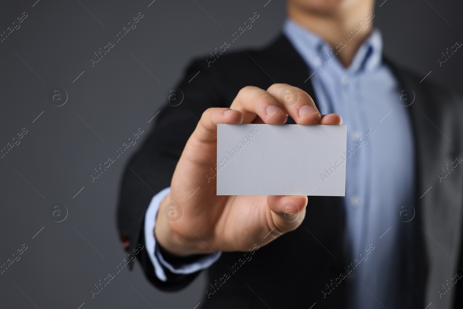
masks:
[[[347,126],[217,126],[217,195],[345,194]]]

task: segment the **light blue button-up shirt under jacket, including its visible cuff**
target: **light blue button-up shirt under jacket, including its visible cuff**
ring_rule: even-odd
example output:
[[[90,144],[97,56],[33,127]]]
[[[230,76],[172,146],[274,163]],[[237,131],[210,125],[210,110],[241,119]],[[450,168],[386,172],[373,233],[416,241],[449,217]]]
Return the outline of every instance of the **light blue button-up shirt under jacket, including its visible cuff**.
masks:
[[[290,19],[283,32],[309,67],[307,82],[312,82],[320,113],[339,114],[347,125],[344,212],[346,256],[350,260],[344,266],[363,260],[351,273],[346,271],[349,281],[341,283],[348,284],[348,307],[400,308],[403,304],[398,299],[403,295],[399,297],[396,286],[403,277],[399,265],[408,246],[407,240],[401,244],[397,240],[399,225],[408,220],[400,216],[401,206],[411,210],[413,204],[414,144],[405,104],[397,100],[402,94],[400,85],[382,61],[381,33],[375,29],[350,66],[344,68],[335,56],[342,47],[332,49]],[[348,39],[344,44],[350,44]],[[176,269],[163,260],[150,235],[159,203],[168,193],[166,188],[153,197],[145,216],[146,247],[156,276],[163,281],[166,276],[161,264],[187,274],[207,268],[219,258],[213,253]],[[374,249],[365,255],[370,244]],[[329,244],[324,246],[329,248]],[[320,285],[322,289],[326,287]]]

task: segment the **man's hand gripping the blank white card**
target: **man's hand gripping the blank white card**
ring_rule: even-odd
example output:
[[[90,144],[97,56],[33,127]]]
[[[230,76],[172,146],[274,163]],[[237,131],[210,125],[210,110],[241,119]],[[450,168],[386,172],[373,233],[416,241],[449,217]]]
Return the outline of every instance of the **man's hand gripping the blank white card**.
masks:
[[[281,125],[288,115],[300,125],[342,123],[338,114],[320,115],[305,91],[288,84],[273,84],[267,91],[244,87],[230,108],[208,108],[202,114],[177,163],[170,194],[159,208],[155,236],[160,246],[179,256],[247,251],[300,226],[307,196],[218,196],[216,178],[208,183],[206,177],[217,162],[218,123]],[[163,215],[169,203],[181,206],[181,220],[172,222]]]

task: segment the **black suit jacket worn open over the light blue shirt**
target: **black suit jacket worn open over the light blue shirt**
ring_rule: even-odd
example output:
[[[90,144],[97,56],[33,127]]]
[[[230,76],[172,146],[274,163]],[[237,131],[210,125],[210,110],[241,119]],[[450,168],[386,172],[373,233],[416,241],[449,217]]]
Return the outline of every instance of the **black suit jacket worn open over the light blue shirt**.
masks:
[[[413,248],[408,251],[411,254],[404,252],[399,258],[403,263],[398,267],[409,276],[397,283],[403,290],[403,295],[398,297],[403,298],[404,308],[425,308],[430,302],[436,305],[434,308],[457,308],[455,301],[460,300],[456,295],[462,295],[457,289],[463,284],[454,284],[440,298],[438,290],[441,284],[447,283],[446,279],[455,277],[458,270],[463,274],[459,269],[463,168],[454,169],[445,184],[438,183],[436,175],[457,156],[463,158],[459,152],[463,151],[461,101],[427,80],[420,82],[421,78],[389,65],[402,88],[408,91],[409,99],[412,93],[415,97],[413,104],[404,108],[409,112],[416,143],[416,216],[402,226],[412,226],[412,233],[407,232],[407,237],[412,239]],[[126,249],[144,243],[143,222],[149,202],[155,193],[170,186],[181,151],[206,108],[230,107],[244,86],[266,89],[275,82],[299,87],[317,103],[308,77],[306,63],[283,35],[262,50],[224,53],[209,66],[205,59],[194,61],[178,86],[184,95],[183,102],[175,107],[168,104],[163,107],[150,136],[125,170],[118,223],[121,240],[128,244]],[[294,121],[289,118],[288,123]],[[207,271],[208,284],[213,284],[216,292],[207,295],[213,289],[210,285],[206,287],[209,292],[205,290],[203,308],[267,308],[267,305],[272,309],[309,308],[313,303],[324,308],[347,308],[351,295],[348,281],[338,284],[326,297],[322,292],[351,262],[344,259],[342,200],[325,196],[308,199],[308,204],[316,207],[307,207],[302,225],[260,247],[251,260],[233,268],[244,253],[223,253]],[[328,246],[331,253],[320,243]],[[169,259],[176,262],[175,257]],[[176,275],[165,269],[168,280],[162,282],[156,277],[146,250],[142,250],[139,261],[148,280],[162,290],[179,290],[198,274]],[[221,284],[225,273],[230,278]],[[406,277],[412,279],[407,281]]]

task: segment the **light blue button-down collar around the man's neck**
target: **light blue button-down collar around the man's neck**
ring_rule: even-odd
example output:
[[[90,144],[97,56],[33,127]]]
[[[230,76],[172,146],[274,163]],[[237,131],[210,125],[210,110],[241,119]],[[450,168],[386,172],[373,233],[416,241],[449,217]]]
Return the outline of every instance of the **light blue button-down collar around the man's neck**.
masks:
[[[375,69],[375,67],[382,63],[382,35],[379,29],[376,28],[357,50],[348,68],[344,68],[338,58],[333,57],[333,55],[336,54],[336,50],[332,49],[330,44],[319,35],[302,27],[292,19],[286,19],[283,25],[283,33],[293,44],[294,48],[305,60],[307,65],[313,70],[327,68],[340,71],[344,74],[355,73],[363,70]],[[349,44],[349,41],[344,39],[344,44]],[[339,48],[340,47],[337,47],[338,50]],[[328,53],[331,58],[328,57],[326,53]]]

